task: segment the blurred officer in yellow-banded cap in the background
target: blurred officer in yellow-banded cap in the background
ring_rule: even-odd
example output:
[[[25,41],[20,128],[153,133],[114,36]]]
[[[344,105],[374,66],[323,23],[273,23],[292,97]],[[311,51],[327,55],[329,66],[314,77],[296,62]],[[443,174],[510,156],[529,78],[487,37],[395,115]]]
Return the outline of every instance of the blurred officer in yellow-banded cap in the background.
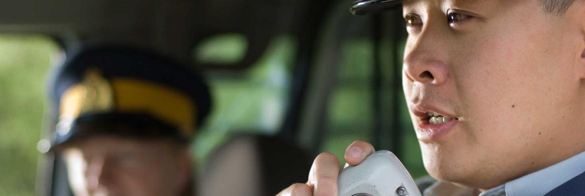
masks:
[[[192,195],[189,144],[211,105],[202,78],[148,51],[99,47],[58,67],[50,86],[75,195]]]

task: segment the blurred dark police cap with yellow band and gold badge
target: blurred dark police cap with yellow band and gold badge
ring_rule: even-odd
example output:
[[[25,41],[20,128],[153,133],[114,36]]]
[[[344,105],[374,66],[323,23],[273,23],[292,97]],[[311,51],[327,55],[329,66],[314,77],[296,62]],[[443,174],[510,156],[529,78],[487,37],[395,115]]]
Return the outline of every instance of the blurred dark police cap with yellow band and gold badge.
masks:
[[[211,98],[201,75],[188,67],[142,49],[77,51],[49,87],[58,115],[50,146],[99,134],[189,141]]]

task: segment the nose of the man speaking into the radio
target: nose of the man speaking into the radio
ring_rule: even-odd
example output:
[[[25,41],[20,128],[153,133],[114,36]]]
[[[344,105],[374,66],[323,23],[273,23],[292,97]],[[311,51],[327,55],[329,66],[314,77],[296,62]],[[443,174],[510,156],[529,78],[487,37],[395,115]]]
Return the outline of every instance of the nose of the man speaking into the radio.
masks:
[[[450,77],[448,44],[437,30],[427,27],[408,39],[404,53],[404,73],[409,82],[441,85]]]

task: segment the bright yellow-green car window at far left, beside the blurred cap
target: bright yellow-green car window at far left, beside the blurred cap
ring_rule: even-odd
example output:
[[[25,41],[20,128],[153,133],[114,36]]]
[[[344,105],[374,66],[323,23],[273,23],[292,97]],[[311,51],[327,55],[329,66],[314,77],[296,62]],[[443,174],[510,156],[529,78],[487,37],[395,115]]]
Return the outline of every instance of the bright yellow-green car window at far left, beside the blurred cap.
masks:
[[[50,37],[0,35],[0,195],[35,194],[45,81],[60,52]]]

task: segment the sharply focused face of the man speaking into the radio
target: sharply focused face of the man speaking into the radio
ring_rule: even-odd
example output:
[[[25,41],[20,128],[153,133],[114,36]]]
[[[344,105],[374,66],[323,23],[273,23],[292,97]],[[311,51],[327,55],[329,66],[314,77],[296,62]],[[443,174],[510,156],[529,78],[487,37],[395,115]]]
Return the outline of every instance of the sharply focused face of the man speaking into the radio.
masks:
[[[431,176],[487,189],[585,150],[585,1],[539,2],[404,4],[404,93]]]

